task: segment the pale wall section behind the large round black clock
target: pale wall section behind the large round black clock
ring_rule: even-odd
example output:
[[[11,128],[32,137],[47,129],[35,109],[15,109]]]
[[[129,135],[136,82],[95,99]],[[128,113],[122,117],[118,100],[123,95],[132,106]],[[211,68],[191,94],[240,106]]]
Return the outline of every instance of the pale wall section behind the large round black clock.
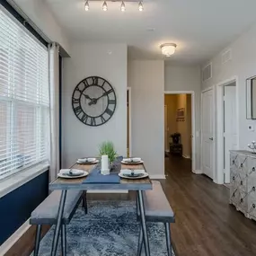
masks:
[[[109,52],[111,51],[111,54]],[[118,154],[127,151],[127,45],[75,44],[70,58],[64,59],[62,90],[62,159],[69,167],[78,157],[98,155],[98,146],[110,140]],[[117,108],[112,118],[100,127],[85,126],[75,117],[71,97],[82,79],[102,76],[110,82],[117,95]]]

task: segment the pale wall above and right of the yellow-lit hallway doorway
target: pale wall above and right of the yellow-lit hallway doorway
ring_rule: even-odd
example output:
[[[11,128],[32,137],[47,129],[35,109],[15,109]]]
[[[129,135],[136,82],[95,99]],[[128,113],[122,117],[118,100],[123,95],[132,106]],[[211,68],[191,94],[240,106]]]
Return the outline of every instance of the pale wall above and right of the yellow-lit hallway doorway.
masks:
[[[195,169],[200,171],[200,67],[165,65],[164,91],[193,91],[195,92]]]

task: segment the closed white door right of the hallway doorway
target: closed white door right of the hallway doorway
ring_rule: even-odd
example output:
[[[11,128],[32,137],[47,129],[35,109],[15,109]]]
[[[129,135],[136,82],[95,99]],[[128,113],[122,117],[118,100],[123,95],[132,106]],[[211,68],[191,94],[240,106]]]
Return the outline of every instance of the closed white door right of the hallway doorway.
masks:
[[[213,179],[213,90],[202,93],[202,172]]]

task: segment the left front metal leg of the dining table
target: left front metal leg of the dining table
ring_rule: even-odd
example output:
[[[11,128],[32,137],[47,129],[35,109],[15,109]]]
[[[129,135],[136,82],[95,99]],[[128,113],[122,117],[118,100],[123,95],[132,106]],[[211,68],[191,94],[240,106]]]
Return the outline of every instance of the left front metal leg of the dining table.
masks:
[[[59,231],[62,223],[62,216],[63,216],[64,207],[65,207],[65,201],[66,201],[66,190],[62,190],[61,198],[60,198],[59,206],[57,210],[57,224],[56,224],[54,235],[53,235],[52,247],[50,252],[51,256],[56,256],[56,253],[57,253],[57,242],[58,242]]]

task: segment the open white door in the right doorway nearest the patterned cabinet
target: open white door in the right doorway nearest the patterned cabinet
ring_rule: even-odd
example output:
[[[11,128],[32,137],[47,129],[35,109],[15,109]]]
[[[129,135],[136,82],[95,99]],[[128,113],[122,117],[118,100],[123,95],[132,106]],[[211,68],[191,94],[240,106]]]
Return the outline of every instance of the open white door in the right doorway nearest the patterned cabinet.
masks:
[[[224,86],[224,170],[230,183],[230,150],[237,149],[237,116],[235,84]]]

